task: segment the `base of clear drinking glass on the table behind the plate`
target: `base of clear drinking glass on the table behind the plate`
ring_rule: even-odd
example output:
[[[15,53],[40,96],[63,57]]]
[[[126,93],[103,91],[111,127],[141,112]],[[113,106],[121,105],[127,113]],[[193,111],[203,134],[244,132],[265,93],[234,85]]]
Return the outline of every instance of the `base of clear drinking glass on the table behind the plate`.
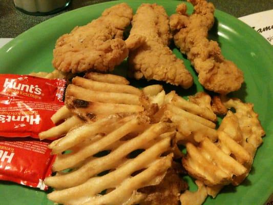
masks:
[[[13,0],[15,7],[31,15],[48,15],[65,9],[71,0]]]

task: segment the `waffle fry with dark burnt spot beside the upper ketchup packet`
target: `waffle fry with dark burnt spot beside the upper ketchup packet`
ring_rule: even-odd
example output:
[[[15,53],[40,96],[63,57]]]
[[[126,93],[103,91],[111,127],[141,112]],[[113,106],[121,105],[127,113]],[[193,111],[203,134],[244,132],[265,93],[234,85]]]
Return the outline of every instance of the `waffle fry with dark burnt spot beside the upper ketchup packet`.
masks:
[[[53,138],[65,135],[73,127],[82,124],[83,121],[95,121],[110,114],[130,114],[141,112],[144,110],[143,107],[140,105],[141,103],[139,100],[142,92],[134,87],[127,86],[129,84],[129,81],[125,78],[112,74],[100,74],[94,72],[87,73],[85,77],[97,81],[88,81],[88,79],[80,77],[75,77],[72,81],[76,85],[80,85],[81,81],[83,80],[83,82],[86,82],[86,84],[83,83],[83,87],[86,86],[88,88],[91,85],[91,87],[93,86],[92,88],[94,88],[94,90],[89,90],[87,88],[75,86],[73,84],[69,85],[66,90],[67,106],[59,109],[51,117],[54,124],[57,124],[61,120],[65,121],[48,131],[41,132],[39,134],[40,139]],[[103,86],[104,83],[106,83],[106,85],[108,86],[106,87],[106,91],[109,91],[110,88],[110,91],[114,92],[101,91],[103,90],[101,86]],[[118,90],[113,89],[116,85],[125,86],[119,87],[119,90],[124,89],[125,93],[117,94],[116,91]],[[147,88],[148,87],[145,87],[144,89],[147,90]],[[148,88],[150,92],[154,93],[155,90],[159,89],[162,90],[162,86],[155,85],[149,86]],[[161,100],[162,104],[163,99],[164,93],[161,93],[161,96],[157,96],[157,98],[151,100],[151,102],[148,100],[147,107],[151,107],[150,104],[154,103],[154,101],[156,101],[155,103],[159,104],[158,100]],[[70,109],[68,109],[68,107]],[[70,110],[72,110],[72,112]],[[156,110],[156,108],[152,109],[150,114],[152,115],[156,112]],[[76,114],[76,116],[71,117],[73,113]]]

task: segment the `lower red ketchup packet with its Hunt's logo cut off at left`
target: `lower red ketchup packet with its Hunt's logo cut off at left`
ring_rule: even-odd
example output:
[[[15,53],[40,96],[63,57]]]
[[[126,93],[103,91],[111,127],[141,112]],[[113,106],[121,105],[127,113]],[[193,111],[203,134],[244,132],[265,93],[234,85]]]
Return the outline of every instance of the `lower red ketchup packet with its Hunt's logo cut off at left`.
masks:
[[[48,141],[0,137],[0,180],[46,190],[44,179],[51,175],[55,155]]]

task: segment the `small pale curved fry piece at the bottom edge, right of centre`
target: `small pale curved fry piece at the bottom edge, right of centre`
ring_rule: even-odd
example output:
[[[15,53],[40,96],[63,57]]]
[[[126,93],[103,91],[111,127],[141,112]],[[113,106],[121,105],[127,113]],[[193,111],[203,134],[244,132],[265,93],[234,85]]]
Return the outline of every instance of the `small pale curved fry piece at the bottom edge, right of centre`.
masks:
[[[180,201],[182,205],[201,205],[205,201],[207,197],[205,185],[198,180],[196,180],[195,183],[198,187],[196,192],[185,191],[181,194]]]

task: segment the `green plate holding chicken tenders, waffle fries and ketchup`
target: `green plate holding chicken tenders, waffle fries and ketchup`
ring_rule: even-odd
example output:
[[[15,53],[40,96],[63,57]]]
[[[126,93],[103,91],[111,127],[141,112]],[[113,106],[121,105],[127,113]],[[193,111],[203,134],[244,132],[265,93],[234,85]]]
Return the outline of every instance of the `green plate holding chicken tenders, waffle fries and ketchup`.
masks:
[[[123,2],[123,1],[122,1]],[[127,1],[125,1],[127,2]],[[143,1],[144,2],[144,1]],[[154,3],[152,1],[145,1]],[[156,1],[164,6],[167,13],[175,13],[176,6],[180,1]],[[73,10],[43,22],[30,30],[19,35],[2,49],[0,49],[0,71],[1,73],[28,74],[33,71],[51,71],[52,50],[56,39],[70,32],[77,25],[85,25],[92,19],[98,17],[101,12],[119,1],[96,4]],[[127,2],[134,11],[141,4],[141,1]],[[192,11],[192,6],[188,6]],[[208,197],[204,204],[264,204],[267,198],[273,193],[273,49],[266,40],[253,29],[242,23],[237,18],[224,12],[216,11],[216,23],[209,36],[217,40],[222,48],[223,55],[233,60],[243,70],[245,84],[242,88],[233,93],[243,101],[254,103],[255,111],[259,113],[259,119],[266,131],[263,145],[258,149],[253,169],[249,176],[238,187],[226,187],[222,192],[212,199]],[[176,48],[175,54],[185,60],[185,65],[195,76],[195,86],[188,91],[173,86],[166,86],[166,89],[179,90],[179,94],[188,95],[201,91],[196,73],[190,66],[188,60],[182,56]],[[124,73],[126,64],[116,68],[115,72]],[[123,69],[123,70],[122,70]],[[145,86],[141,80],[134,85]],[[191,179],[188,178],[190,187],[194,190]],[[10,182],[0,182],[0,204],[53,204],[47,200],[46,193],[37,189],[15,185]]]

